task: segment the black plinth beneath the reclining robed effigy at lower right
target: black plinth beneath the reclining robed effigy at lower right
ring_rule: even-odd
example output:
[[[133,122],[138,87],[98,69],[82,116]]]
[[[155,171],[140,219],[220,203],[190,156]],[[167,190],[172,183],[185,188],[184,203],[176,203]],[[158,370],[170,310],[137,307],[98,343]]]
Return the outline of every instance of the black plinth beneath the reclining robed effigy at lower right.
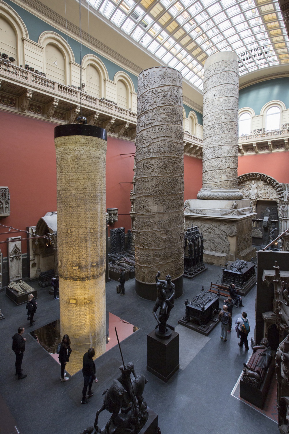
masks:
[[[250,360],[250,359],[249,359]],[[263,382],[260,389],[257,389],[250,384],[245,383],[245,381],[240,380],[240,398],[245,399],[250,402],[250,404],[256,405],[258,408],[263,408],[265,400],[267,398],[267,391],[270,386],[272,375],[275,372],[275,352],[273,352],[273,357],[270,365],[267,368],[266,374],[264,376]]]

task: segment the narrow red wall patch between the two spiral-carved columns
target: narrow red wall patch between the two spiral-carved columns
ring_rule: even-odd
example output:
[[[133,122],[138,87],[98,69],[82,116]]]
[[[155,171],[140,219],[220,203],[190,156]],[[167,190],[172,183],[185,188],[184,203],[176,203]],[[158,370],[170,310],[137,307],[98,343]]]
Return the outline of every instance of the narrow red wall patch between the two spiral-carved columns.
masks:
[[[202,188],[202,160],[184,155],[184,200],[196,199]]]

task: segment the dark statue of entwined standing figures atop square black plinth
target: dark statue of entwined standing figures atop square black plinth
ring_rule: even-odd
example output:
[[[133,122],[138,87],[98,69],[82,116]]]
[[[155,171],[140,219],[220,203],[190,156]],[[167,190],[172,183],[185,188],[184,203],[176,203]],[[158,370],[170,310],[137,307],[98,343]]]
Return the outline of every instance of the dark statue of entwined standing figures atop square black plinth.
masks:
[[[175,286],[171,282],[171,276],[166,276],[166,280],[160,280],[161,273],[157,272],[156,285],[157,285],[157,300],[154,305],[153,315],[157,320],[158,332],[156,335],[160,338],[167,339],[170,337],[171,332],[167,329],[167,320],[170,316],[170,311],[173,309],[175,301]],[[157,309],[160,311],[157,315]],[[156,328],[157,328],[156,327]]]

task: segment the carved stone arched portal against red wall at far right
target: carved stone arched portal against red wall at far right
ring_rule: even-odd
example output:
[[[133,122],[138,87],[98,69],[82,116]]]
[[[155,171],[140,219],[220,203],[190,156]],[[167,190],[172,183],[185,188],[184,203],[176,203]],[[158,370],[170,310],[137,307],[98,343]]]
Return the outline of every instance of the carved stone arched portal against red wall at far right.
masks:
[[[257,201],[276,201],[279,232],[289,228],[289,184],[279,183],[264,173],[251,172],[238,176],[238,188],[244,199],[250,199],[253,211],[256,211]]]

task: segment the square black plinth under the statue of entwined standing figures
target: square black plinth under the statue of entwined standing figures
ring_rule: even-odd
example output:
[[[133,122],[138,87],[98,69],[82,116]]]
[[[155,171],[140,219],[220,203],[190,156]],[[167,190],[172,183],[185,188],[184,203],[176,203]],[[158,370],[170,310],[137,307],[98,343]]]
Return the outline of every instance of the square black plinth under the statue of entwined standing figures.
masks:
[[[170,339],[160,339],[154,330],[148,334],[147,370],[165,383],[180,368],[179,333],[172,331]]]

